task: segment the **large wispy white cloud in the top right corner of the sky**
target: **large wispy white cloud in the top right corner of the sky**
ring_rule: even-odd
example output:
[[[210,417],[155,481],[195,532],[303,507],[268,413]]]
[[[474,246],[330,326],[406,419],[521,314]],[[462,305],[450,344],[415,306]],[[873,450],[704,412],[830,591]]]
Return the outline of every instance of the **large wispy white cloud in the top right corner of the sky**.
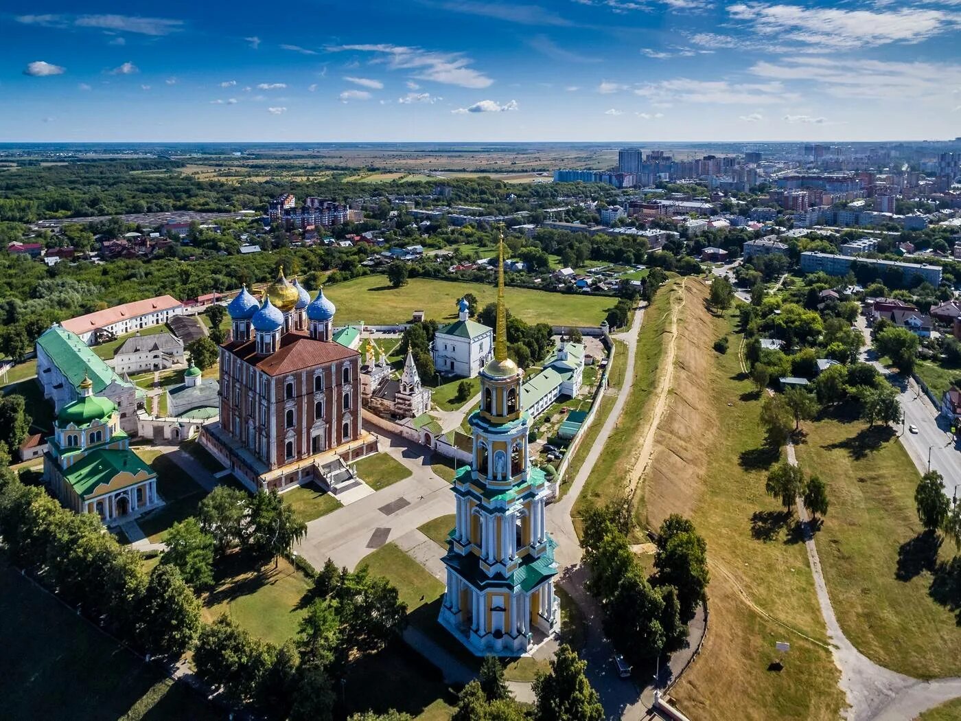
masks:
[[[729,5],[727,12],[761,36],[831,49],[916,43],[961,28],[961,16],[917,6],[870,11],[751,2]]]

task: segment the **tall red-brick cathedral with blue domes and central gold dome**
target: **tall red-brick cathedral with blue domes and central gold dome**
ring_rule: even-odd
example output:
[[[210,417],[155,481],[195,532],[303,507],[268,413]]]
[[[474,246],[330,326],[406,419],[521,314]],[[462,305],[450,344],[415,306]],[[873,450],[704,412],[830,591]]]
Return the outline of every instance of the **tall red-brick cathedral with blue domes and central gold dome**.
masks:
[[[359,483],[347,463],[377,451],[360,428],[360,354],[333,339],[334,311],[283,270],[261,300],[244,287],[227,307],[220,420],[200,440],[252,490],[315,481],[337,493]]]

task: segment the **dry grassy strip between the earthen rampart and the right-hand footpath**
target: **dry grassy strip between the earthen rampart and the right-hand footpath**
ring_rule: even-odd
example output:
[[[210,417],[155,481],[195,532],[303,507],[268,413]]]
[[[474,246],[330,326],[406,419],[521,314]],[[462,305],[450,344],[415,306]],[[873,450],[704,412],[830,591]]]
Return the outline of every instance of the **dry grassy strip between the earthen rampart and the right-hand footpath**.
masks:
[[[780,507],[765,494],[764,479],[778,452],[764,444],[733,314],[714,322],[710,340],[727,334],[731,350],[702,349],[714,359],[710,409],[688,436],[710,454],[692,514],[707,542],[709,632],[672,695],[688,716],[708,721],[836,719],[844,696],[803,544],[790,529],[770,528]],[[784,670],[768,670],[781,640],[791,643],[790,658]]]

